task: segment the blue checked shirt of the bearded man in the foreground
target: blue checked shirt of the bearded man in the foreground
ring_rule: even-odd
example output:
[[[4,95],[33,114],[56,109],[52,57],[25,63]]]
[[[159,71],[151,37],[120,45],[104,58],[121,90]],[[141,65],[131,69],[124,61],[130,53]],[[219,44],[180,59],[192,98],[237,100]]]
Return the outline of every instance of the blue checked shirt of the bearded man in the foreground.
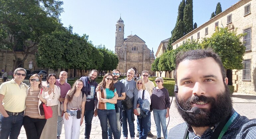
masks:
[[[235,110],[231,112],[231,116]],[[168,139],[186,139],[185,131],[188,128],[189,139],[210,139],[219,123],[209,127],[201,137],[195,135],[192,127],[187,123],[181,123],[173,127],[168,133]],[[227,129],[222,139],[256,139],[256,119],[248,119],[246,116],[238,115]]]

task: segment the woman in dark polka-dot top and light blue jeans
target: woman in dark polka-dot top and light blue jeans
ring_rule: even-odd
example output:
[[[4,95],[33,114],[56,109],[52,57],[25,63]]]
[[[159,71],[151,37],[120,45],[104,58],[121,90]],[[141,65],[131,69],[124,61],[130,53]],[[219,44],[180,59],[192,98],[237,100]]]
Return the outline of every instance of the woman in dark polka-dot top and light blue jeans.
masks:
[[[161,139],[161,126],[163,135],[167,138],[166,118],[169,117],[170,97],[168,90],[163,86],[164,79],[157,77],[156,85],[151,96],[151,106],[157,130],[157,138]]]

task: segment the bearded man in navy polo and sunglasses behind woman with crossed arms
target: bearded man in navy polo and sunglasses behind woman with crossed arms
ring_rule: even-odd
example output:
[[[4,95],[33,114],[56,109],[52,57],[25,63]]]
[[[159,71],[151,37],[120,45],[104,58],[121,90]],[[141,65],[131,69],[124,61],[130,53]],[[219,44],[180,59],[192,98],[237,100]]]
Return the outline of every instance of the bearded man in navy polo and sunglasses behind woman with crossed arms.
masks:
[[[119,138],[121,137],[121,123],[120,120],[123,117],[122,113],[122,104],[121,101],[125,99],[125,86],[122,82],[118,80],[120,77],[120,71],[115,69],[112,71],[113,75],[113,83],[116,89],[116,93],[118,94],[117,103],[115,104],[116,107],[116,122],[117,122],[117,131]],[[112,139],[112,131],[108,124],[108,139]]]

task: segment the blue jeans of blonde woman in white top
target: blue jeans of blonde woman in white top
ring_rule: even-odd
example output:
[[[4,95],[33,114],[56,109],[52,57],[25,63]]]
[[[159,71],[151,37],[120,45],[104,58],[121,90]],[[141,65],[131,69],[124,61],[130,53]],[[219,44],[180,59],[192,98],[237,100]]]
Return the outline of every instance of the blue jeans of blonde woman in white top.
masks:
[[[137,116],[138,117],[138,116]],[[139,138],[140,139],[146,139],[147,135],[148,135],[148,122],[150,117],[150,112],[148,113],[148,115],[146,117],[142,117],[142,118],[138,118],[139,121],[139,129],[140,129],[140,135]]]

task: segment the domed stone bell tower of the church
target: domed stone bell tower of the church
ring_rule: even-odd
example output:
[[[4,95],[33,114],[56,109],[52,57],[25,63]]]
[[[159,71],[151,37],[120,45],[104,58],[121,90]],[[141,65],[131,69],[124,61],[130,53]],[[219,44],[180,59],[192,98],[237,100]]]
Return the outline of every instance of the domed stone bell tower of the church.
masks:
[[[118,48],[122,47],[124,44],[124,21],[120,19],[116,22],[116,44],[115,44],[115,52]]]

